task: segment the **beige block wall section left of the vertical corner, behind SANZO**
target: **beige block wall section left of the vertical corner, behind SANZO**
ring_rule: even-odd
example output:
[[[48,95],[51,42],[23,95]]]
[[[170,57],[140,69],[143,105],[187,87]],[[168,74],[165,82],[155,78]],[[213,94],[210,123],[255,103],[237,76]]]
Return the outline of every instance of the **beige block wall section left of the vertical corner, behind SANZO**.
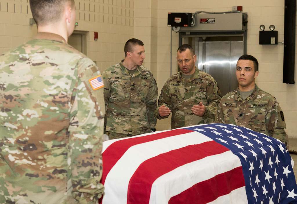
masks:
[[[88,57],[102,71],[124,59],[124,44],[134,36],[134,0],[75,0],[75,6],[75,30],[88,32]],[[0,53],[34,37],[37,27],[29,18],[29,0],[0,0]]]

